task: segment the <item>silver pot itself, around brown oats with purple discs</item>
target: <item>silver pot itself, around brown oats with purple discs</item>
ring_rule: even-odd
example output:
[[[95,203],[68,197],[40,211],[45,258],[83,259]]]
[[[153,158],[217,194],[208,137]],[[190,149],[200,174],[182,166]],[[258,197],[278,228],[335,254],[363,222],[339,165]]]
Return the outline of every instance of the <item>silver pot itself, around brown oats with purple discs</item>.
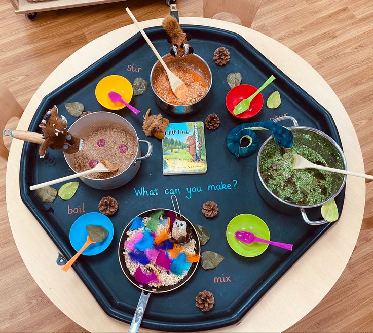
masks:
[[[98,111],[89,113],[84,117],[78,119],[76,122],[74,122],[69,127],[68,131],[74,136],[77,136],[79,138],[85,138],[92,130],[97,129],[97,126],[103,127],[110,125],[116,125],[126,128],[127,130],[133,133],[133,135],[137,138],[137,153],[129,167],[113,177],[104,179],[79,177],[83,183],[93,188],[97,188],[99,190],[109,190],[113,188],[118,188],[128,183],[136,175],[138,169],[140,168],[141,161],[152,156],[153,151],[152,144],[146,140],[138,139],[135,129],[126,119],[112,112]],[[147,153],[145,156],[141,156],[140,143],[146,143],[148,146]],[[73,172],[76,172],[71,167],[71,155],[68,155],[66,153],[63,153],[63,155],[65,156],[66,163],[71,168],[71,170]]]

